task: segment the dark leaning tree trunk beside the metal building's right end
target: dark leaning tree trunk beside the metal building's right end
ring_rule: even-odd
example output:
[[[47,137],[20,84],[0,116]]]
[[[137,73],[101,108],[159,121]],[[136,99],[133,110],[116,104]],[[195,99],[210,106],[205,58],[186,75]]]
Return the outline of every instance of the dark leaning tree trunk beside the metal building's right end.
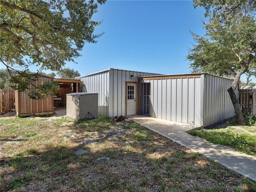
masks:
[[[236,98],[236,94],[235,94],[232,87],[230,87],[228,89],[228,93],[229,93],[230,99],[232,101],[232,104],[234,106],[234,110],[235,110],[235,114],[236,114],[236,120],[237,120],[238,124],[246,125],[246,123],[244,121],[244,116],[243,116],[242,110],[240,108],[240,104],[238,102],[238,99]]]

